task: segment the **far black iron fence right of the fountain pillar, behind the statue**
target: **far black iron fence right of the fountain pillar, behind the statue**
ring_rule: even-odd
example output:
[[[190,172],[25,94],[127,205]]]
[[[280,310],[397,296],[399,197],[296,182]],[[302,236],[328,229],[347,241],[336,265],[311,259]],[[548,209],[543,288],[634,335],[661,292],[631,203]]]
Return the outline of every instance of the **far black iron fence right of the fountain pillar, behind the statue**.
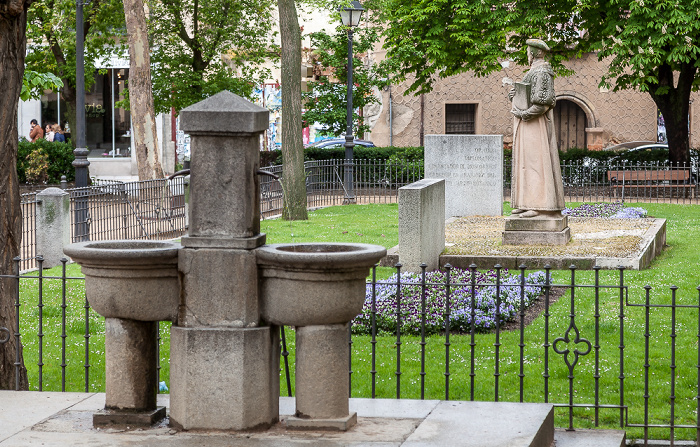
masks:
[[[307,206],[342,205],[347,189],[343,181],[345,160],[307,161]],[[265,168],[282,175],[282,166]],[[357,203],[395,203],[398,190],[424,174],[423,162],[395,163],[384,160],[353,160],[354,194]],[[561,164],[564,195],[569,202],[660,202],[700,203],[700,162],[669,165],[659,162],[583,160]],[[503,164],[503,192],[510,197],[512,165]],[[260,209],[263,218],[283,209],[282,187],[270,177],[261,179]]]

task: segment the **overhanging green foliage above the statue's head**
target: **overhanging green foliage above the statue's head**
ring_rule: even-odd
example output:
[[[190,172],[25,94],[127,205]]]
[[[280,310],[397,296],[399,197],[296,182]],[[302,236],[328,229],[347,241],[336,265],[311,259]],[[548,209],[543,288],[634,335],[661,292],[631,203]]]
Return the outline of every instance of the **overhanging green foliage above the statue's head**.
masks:
[[[406,93],[427,93],[440,78],[474,72],[486,76],[512,59],[525,64],[524,42],[546,36],[552,64],[567,73],[562,60],[576,54],[574,0],[370,0],[366,8],[384,24],[387,68],[397,81],[409,81]]]

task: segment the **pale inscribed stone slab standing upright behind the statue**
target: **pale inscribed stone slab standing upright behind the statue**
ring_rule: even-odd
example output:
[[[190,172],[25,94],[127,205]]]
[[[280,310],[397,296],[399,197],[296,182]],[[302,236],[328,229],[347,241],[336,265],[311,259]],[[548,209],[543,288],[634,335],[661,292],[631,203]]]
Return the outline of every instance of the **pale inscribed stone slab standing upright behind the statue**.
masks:
[[[426,135],[425,178],[445,179],[445,218],[503,214],[503,136]]]

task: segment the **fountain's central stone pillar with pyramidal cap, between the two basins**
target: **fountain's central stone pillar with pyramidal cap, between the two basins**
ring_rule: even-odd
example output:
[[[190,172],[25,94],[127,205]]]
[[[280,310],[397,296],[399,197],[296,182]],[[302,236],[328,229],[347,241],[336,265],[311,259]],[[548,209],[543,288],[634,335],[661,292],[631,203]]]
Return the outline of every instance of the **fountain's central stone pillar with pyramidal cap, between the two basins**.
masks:
[[[189,231],[171,332],[171,424],[245,430],[279,418],[279,329],[262,326],[257,171],[268,111],[221,92],[180,112],[191,137]]]

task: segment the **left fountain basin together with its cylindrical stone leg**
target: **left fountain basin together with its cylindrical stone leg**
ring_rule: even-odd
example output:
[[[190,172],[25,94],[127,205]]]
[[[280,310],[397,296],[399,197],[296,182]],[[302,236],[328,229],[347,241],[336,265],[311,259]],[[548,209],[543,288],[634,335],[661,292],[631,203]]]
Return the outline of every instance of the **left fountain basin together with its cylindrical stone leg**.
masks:
[[[65,248],[85,274],[85,294],[105,317],[104,411],[95,426],[150,425],[165,417],[158,393],[158,322],[174,321],[180,299],[179,244],[81,242]]]

